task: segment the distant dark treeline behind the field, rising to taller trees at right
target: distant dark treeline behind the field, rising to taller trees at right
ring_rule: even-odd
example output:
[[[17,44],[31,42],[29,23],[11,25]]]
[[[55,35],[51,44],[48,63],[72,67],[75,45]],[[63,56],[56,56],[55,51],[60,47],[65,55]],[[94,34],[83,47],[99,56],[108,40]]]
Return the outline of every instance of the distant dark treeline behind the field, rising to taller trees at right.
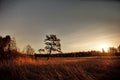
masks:
[[[86,52],[69,52],[69,53],[54,53],[51,57],[88,57],[88,56],[120,56],[120,46],[118,48],[109,47],[108,52],[101,51],[86,51]],[[35,54],[35,57],[48,57],[48,54]]]

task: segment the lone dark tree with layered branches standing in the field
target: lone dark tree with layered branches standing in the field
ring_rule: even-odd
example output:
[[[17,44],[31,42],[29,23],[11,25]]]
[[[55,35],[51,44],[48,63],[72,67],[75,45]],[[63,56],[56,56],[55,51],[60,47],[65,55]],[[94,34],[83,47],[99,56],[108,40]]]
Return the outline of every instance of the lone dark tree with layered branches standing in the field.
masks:
[[[62,53],[60,39],[56,37],[56,35],[46,35],[46,39],[44,40],[46,46],[45,50],[48,52],[48,59],[52,53],[52,51],[57,51]]]

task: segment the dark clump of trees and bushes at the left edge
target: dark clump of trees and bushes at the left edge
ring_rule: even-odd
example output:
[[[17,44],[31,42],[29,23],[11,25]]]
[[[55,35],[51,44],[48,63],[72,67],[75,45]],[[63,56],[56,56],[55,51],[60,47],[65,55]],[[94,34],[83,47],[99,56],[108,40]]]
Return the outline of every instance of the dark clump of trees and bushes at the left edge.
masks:
[[[22,54],[17,51],[16,40],[9,35],[0,36],[0,61],[14,59]]]

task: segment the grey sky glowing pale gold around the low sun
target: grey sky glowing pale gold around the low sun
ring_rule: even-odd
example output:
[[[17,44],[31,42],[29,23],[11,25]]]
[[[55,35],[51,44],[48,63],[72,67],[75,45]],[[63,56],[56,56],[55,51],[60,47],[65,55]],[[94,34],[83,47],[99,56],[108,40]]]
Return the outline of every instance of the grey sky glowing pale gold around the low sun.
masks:
[[[120,44],[119,0],[0,0],[0,35],[15,37],[22,50],[44,48],[46,35],[62,51],[100,50]]]

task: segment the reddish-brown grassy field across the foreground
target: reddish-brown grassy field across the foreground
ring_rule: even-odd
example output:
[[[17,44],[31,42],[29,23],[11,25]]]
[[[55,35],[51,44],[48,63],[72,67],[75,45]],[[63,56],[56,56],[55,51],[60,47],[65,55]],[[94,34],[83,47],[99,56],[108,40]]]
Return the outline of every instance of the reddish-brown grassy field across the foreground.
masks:
[[[17,58],[0,63],[0,80],[120,80],[120,57]]]

